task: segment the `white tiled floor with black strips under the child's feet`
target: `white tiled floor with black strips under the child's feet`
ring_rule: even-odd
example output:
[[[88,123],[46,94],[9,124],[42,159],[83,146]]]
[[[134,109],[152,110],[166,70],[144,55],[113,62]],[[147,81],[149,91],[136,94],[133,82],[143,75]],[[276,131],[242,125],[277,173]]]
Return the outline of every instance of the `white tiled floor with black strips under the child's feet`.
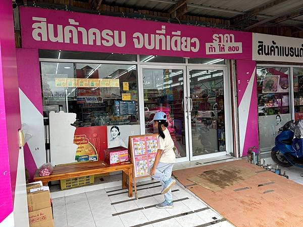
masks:
[[[160,186],[138,183],[138,199],[129,198],[120,186],[53,199],[55,226],[233,226],[177,184],[174,208],[156,208],[164,200]]]

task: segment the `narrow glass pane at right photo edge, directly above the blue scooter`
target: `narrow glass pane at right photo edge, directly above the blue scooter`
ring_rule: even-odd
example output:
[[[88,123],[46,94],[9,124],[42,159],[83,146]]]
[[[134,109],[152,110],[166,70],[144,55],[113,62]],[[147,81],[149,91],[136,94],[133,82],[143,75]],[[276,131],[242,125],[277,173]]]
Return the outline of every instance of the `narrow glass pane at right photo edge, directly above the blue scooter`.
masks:
[[[303,68],[293,68],[294,120],[303,119]]]

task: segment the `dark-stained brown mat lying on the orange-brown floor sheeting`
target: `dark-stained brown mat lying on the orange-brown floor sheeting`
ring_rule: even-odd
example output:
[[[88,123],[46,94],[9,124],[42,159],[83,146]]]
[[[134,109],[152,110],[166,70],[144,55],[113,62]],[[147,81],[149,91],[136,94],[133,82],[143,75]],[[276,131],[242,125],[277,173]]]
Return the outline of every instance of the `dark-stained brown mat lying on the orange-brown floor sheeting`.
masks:
[[[251,169],[244,166],[224,165],[188,178],[188,180],[213,192],[218,192],[255,175],[255,171],[251,171]]]

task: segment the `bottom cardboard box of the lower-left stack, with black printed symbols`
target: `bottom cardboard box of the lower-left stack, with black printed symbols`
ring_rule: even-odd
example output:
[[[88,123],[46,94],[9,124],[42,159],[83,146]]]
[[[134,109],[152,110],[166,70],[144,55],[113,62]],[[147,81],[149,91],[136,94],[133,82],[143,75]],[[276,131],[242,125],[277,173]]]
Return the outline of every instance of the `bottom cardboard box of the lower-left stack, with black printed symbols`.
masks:
[[[52,207],[28,213],[30,227],[54,227]]]

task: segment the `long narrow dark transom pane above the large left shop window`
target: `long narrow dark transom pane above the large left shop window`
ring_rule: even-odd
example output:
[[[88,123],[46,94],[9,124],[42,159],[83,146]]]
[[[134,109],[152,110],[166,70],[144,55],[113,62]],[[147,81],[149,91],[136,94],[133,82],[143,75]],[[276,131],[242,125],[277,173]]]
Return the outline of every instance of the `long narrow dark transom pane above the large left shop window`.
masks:
[[[100,61],[127,61],[135,62],[136,54],[122,53],[100,53],[100,52],[84,52],[84,51],[68,51],[39,49],[39,58],[45,59],[83,59],[83,60],[100,60]]]

